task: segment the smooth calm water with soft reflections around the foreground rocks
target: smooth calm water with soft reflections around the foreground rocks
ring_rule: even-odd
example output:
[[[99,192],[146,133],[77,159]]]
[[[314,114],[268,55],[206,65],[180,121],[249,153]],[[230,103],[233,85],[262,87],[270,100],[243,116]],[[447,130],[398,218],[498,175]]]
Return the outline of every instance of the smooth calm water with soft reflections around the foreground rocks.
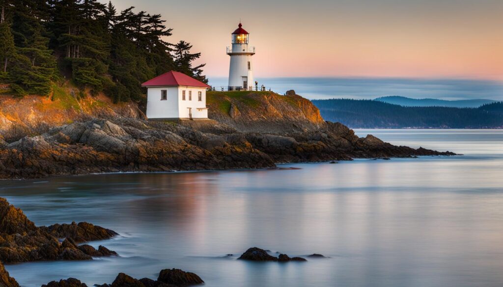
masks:
[[[0,181],[37,225],[89,221],[121,257],[8,265],[24,286],[163,268],[206,286],[503,285],[503,131],[358,130],[456,157],[286,164],[299,169],[101,174]],[[236,260],[258,246],[328,259]]]

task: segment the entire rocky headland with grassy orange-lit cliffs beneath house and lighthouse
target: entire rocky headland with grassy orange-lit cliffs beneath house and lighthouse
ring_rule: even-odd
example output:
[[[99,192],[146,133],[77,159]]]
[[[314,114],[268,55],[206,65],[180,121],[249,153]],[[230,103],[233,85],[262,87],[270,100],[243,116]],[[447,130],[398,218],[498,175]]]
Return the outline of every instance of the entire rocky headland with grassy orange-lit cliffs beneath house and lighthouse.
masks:
[[[3,111],[11,113],[0,118],[18,115],[15,122],[29,130],[15,134],[2,126],[8,132],[2,132],[4,139],[0,138],[0,178],[264,168],[278,162],[453,154],[393,146],[373,136],[359,138],[342,124],[324,122],[310,101],[295,94],[209,92],[210,117],[216,121],[191,125],[144,120],[132,104],[89,110],[60,108],[51,113],[41,105],[37,112],[30,112],[34,120],[22,121],[15,107],[30,98],[8,101],[18,102],[3,105]],[[88,107],[87,103],[96,100],[76,101],[79,107]],[[100,119],[93,118],[96,114]],[[63,115],[71,123],[43,120],[48,115]],[[45,132],[32,135],[37,125]]]

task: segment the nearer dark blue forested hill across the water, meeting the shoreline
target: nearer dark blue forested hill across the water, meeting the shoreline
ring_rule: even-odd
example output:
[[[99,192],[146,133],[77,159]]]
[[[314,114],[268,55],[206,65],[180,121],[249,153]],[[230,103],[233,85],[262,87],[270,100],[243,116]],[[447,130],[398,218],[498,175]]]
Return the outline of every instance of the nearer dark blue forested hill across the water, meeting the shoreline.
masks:
[[[372,100],[313,100],[321,116],[352,128],[503,128],[503,103],[479,108],[402,107]]]

